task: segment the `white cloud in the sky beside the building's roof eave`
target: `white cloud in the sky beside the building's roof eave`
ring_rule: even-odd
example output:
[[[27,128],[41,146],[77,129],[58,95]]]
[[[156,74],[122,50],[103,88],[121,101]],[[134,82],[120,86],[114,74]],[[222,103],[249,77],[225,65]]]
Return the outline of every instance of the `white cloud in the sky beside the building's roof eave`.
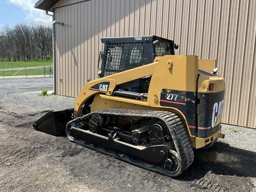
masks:
[[[27,22],[51,24],[52,17],[45,14],[45,11],[35,9],[37,0],[7,0],[8,3],[25,9]]]

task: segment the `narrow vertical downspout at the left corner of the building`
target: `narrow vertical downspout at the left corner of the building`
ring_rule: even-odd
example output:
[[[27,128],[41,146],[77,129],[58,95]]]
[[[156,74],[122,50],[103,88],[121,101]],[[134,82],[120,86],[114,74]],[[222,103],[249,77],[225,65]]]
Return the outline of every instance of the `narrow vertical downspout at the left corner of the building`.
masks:
[[[45,11],[46,15],[52,16],[52,22],[55,20],[55,11],[53,10],[53,14],[49,14],[48,10]],[[55,52],[55,25],[52,24],[52,60],[53,60],[53,94],[56,94],[56,52]]]

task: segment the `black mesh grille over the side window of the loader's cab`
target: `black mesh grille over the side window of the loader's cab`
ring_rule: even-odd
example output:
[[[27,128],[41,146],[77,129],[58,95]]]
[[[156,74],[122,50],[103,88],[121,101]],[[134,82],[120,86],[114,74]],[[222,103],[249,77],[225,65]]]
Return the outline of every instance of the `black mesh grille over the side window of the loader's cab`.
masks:
[[[143,44],[140,42],[108,43],[104,54],[103,76],[140,66]]]

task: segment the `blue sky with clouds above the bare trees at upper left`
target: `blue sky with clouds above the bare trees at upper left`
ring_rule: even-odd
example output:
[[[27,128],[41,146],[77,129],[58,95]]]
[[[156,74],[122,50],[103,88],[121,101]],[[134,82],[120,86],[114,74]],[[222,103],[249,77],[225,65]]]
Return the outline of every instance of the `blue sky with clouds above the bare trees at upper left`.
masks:
[[[52,17],[45,11],[35,9],[38,0],[0,0],[0,31],[4,26],[15,26],[19,23],[51,24]]]

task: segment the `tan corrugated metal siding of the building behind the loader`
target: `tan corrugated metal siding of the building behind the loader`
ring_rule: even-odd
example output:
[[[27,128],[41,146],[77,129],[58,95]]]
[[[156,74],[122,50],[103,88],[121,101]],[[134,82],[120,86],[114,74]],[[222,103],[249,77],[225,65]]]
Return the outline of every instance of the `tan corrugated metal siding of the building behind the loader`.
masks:
[[[256,128],[256,1],[80,1],[54,5],[65,23],[56,25],[57,94],[75,97],[96,78],[100,37],[154,34],[179,44],[176,54],[216,58],[226,79],[223,122]]]

